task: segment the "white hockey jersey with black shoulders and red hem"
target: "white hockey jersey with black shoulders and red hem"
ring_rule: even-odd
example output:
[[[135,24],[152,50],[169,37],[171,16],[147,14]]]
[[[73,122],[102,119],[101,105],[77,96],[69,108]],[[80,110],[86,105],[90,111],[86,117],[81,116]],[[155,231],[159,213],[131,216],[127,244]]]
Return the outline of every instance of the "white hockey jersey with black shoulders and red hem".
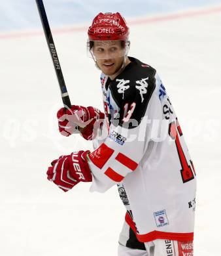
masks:
[[[118,185],[140,242],[193,240],[196,173],[179,121],[156,70],[129,59],[113,81],[101,75],[108,121],[88,158],[90,191]]]

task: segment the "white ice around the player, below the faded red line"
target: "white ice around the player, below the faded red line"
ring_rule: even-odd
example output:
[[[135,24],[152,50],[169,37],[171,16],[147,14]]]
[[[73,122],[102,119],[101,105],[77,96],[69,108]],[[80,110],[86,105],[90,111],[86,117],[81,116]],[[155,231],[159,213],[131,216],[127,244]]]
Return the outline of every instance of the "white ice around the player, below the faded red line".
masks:
[[[131,26],[130,55],[158,70],[194,160],[200,256],[220,255],[220,25],[213,11]],[[86,31],[54,33],[54,41],[73,104],[102,109]],[[125,213],[117,189],[89,193],[80,184],[63,193],[46,180],[51,160],[92,146],[58,134],[62,104],[44,35],[1,38],[0,53],[0,255],[116,255]]]

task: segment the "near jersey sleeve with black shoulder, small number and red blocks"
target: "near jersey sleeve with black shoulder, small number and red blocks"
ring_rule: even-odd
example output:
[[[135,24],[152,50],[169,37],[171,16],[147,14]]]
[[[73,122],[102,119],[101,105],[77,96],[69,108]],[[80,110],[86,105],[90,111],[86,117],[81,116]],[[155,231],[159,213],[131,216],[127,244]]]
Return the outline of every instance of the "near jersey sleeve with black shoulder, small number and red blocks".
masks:
[[[105,192],[136,171],[151,137],[152,122],[148,119],[161,118],[155,74],[135,77],[127,89],[117,80],[109,96],[110,104],[118,105],[118,112],[112,116],[107,139],[88,156],[91,192]]]

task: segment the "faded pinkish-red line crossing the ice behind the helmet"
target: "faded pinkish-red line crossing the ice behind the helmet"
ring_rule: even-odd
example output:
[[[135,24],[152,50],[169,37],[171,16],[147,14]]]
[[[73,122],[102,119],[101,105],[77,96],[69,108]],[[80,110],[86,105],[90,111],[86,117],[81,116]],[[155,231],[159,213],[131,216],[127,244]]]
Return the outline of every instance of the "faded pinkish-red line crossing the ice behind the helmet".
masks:
[[[221,6],[211,7],[207,9],[197,9],[186,12],[177,12],[171,14],[162,14],[160,16],[153,16],[147,18],[141,18],[137,20],[131,20],[128,22],[129,25],[137,25],[137,24],[146,24],[146,23],[154,23],[154,22],[162,22],[169,20],[177,20],[182,18],[190,18],[194,16],[211,14],[214,12],[221,12]],[[88,26],[70,26],[65,28],[56,28],[52,30],[52,33],[73,33],[73,32],[86,32],[88,30]],[[11,38],[19,38],[19,37],[33,37],[37,35],[42,35],[42,30],[33,30],[33,31],[24,31],[24,32],[7,32],[0,33],[0,39],[11,39]]]

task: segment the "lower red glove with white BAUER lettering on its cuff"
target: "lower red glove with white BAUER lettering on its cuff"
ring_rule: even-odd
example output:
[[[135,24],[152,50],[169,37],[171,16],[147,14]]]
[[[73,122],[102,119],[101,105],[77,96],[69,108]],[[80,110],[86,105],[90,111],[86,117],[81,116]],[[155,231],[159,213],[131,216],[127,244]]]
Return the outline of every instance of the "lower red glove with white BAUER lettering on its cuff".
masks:
[[[92,174],[86,159],[86,155],[89,153],[89,150],[80,150],[52,161],[52,166],[48,167],[47,171],[48,180],[53,181],[65,192],[80,181],[92,181]]]

